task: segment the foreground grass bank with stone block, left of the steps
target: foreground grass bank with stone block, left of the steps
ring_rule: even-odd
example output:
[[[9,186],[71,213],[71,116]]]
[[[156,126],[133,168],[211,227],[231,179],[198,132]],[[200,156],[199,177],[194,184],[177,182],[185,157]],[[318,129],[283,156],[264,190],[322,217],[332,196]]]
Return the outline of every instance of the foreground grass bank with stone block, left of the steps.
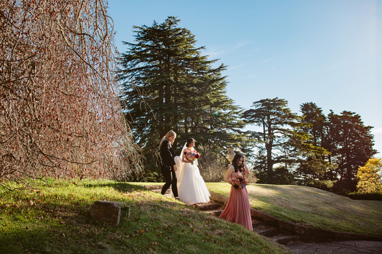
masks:
[[[241,225],[139,185],[50,181],[0,193],[0,253],[284,253]],[[125,202],[131,216],[118,226],[94,221],[96,200]]]

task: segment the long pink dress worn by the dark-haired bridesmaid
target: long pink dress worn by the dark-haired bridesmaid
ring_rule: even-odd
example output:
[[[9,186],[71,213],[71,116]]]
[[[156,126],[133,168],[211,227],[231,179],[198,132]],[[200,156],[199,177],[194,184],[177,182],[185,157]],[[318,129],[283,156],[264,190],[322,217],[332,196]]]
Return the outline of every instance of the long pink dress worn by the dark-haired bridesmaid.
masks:
[[[231,177],[242,177],[243,175],[238,172],[233,172]],[[249,205],[248,191],[247,188],[235,189],[232,185],[230,197],[228,198],[228,203],[219,218],[226,219],[237,224],[241,224],[253,230],[252,219],[251,219],[251,207]]]

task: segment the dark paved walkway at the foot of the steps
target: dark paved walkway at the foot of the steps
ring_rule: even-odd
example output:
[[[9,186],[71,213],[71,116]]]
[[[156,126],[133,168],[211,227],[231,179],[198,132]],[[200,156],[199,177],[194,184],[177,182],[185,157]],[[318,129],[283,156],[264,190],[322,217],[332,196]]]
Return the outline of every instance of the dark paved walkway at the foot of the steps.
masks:
[[[381,241],[326,241],[326,242],[303,242],[288,245],[293,253],[382,253]]]

